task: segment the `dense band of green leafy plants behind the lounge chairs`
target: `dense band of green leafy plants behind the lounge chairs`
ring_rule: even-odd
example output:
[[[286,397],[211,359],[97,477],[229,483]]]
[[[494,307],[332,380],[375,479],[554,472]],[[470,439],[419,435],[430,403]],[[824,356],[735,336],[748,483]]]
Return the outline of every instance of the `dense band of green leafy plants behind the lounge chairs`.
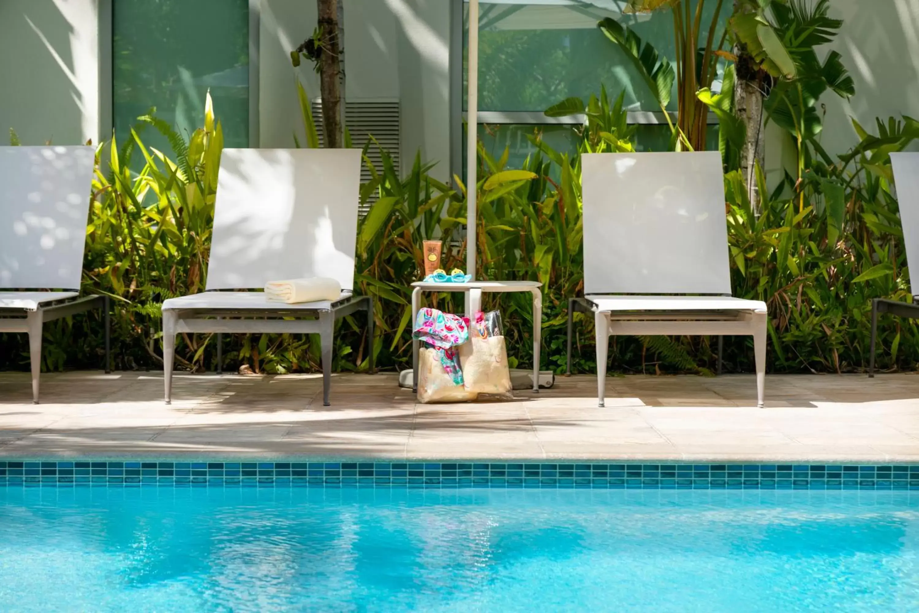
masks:
[[[716,106],[717,99],[712,100]],[[536,151],[522,168],[507,167],[479,148],[476,220],[480,278],[539,280],[543,283],[543,368],[565,368],[567,301],[583,292],[584,253],[580,153],[631,151],[633,129],[626,123],[622,96],[610,104],[605,91],[584,103],[566,102],[566,112],[584,113],[574,155],[553,151],[532,138]],[[561,112],[561,110],[559,110]],[[159,124],[159,127],[157,127]],[[891,190],[890,154],[919,138],[910,118],[878,121],[877,133],[854,124],[861,141],[832,159],[811,142],[804,151],[801,180],[787,178],[770,195],[757,169],[763,195],[758,217],[747,200],[743,177],[725,176],[726,214],[735,296],[764,300],[769,307],[769,369],[825,372],[863,369],[868,363],[870,301],[908,300],[908,271],[897,201]],[[147,147],[144,127],[163,131],[155,118],[140,120],[124,143],[103,143],[96,151],[91,219],[86,235],[84,289],[103,292],[113,303],[113,353],[119,369],[161,368],[160,305],[167,298],[204,287],[210,228],[220,163],[222,131],[210,105],[205,127],[172,156]],[[309,124],[306,126],[309,133]],[[167,136],[175,141],[176,136]],[[181,138],[181,137],[179,137]],[[430,175],[432,165],[416,156],[400,177],[390,155],[379,167],[364,155],[370,180],[360,190],[371,203],[357,228],[357,289],[376,298],[377,336],[372,344],[384,369],[410,363],[410,283],[423,269],[422,241],[444,242],[444,267],[463,267],[466,249],[459,230],[466,223],[466,190]],[[138,173],[132,157],[142,156]],[[137,165],[134,165],[137,167]],[[108,170],[106,170],[108,169]],[[552,177],[559,177],[557,180]],[[782,194],[791,193],[792,197]],[[800,207],[800,202],[804,203]],[[459,312],[455,296],[433,295],[437,308]],[[523,294],[488,297],[499,308],[514,359],[531,362],[531,304]],[[97,314],[65,318],[46,326],[46,369],[97,368],[102,337]],[[575,315],[574,371],[593,372],[591,318]],[[368,368],[362,315],[347,317],[335,337],[335,369]],[[25,368],[28,345],[6,335],[18,350],[3,366]],[[708,337],[617,337],[610,368],[619,372],[698,372],[714,368]],[[213,369],[213,335],[180,335],[179,368]],[[294,335],[227,335],[224,367],[247,364],[256,372],[295,372],[319,367],[318,339]],[[8,358],[6,358],[8,359]],[[879,366],[914,369],[919,361],[915,322],[882,318]],[[729,371],[753,369],[747,337],[726,339]]]

